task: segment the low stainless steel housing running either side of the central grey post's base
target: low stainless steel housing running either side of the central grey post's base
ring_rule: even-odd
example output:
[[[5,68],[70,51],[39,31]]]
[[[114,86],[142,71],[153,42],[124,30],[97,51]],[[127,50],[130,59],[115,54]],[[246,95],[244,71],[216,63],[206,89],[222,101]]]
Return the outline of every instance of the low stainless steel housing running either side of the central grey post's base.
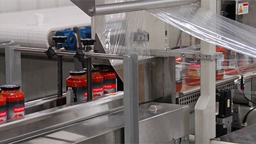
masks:
[[[151,105],[158,110],[149,111]],[[188,113],[188,106],[155,102],[141,105],[140,143],[167,143],[188,136]],[[42,138],[48,138],[62,143],[123,143],[122,127],[123,111],[117,111],[19,142],[42,143]]]

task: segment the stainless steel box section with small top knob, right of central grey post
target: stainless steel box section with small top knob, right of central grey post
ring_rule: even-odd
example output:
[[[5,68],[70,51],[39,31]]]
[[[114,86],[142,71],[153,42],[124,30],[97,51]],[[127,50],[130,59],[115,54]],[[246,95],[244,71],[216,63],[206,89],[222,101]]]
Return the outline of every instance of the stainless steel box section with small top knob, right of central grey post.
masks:
[[[148,111],[151,105],[159,108],[156,114]],[[145,116],[140,121],[140,143],[167,143],[189,134],[188,106],[148,103],[142,105],[140,113]],[[147,115],[153,117],[147,118]]]

